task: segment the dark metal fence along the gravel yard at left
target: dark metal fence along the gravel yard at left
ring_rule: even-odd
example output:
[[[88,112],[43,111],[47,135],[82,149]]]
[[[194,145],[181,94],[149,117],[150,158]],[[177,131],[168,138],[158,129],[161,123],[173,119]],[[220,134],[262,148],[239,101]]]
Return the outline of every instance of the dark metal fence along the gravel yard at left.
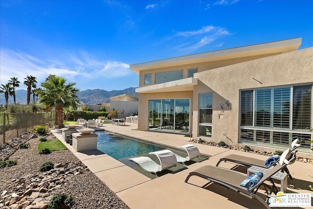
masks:
[[[54,121],[54,113],[1,113],[0,144],[51,121]]]

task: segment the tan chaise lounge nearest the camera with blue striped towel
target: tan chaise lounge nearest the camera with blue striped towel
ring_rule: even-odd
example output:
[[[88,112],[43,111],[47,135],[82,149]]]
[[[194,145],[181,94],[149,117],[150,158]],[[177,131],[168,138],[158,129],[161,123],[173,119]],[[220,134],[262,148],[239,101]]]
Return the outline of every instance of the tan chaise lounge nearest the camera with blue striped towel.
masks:
[[[266,193],[270,195],[271,193],[278,192],[277,187],[275,186],[273,180],[271,179],[271,176],[279,172],[280,170],[284,169],[287,164],[293,163],[295,161],[295,152],[291,155],[289,158],[287,156],[287,152],[290,152],[290,149],[286,150],[281,158],[280,158],[280,163],[276,164],[272,169],[270,169],[268,172],[266,172],[264,175],[262,173],[262,177],[259,179],[259,181],[253,181],[252,186],[248,186],[248,188],[241,186],[241,184],[244,183],[244,181],[247,181],[248,178],[252,178],[251,176],[247,178],[245,174],[238,173],[233,170],[229,169],[224,169],[221,167],[216,167],[212,165],[204,165],[195,171],[191,172],[186,180],[185,183],[188,183],[188,180],[191,176],[198,176],[203,179],[206,179],[210,181],[210,183],[215,183],[217,185],[223,186],[226,189],[230,189],[233,191],[238,192],[239,194],[250,198],[250,199],[256,199],[259,202],[261,202],[267,209],[270,209],[268,206],[268,198],[266,200],[262,199],[260,196],[257,195],[257,191],[260,186],[265,186]],[[289,159],[289,160],[287,160]],[[254,178],[254,177],[253,177]],[[270,181],[272,186],[270,187],[270,191],[268,191],[267,187],[268,185],[265,184],[265,181]],[[248,183],[249,182],[248,180]],[[206,184],[205,186],[207,186]],[[202,186],[204,188],[204,186]]]

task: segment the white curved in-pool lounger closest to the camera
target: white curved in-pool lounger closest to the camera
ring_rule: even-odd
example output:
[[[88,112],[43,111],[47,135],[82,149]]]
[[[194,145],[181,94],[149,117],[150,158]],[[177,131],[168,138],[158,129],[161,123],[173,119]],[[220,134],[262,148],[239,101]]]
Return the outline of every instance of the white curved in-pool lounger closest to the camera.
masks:
[[[157,164],[151,158],[145,157],[145,156],[130,158],[128,160],[133,161],[134,163],[137,163],[146,171],[150,173],[155,173],[155,174],[156,172],[159,172],[164,169],[174,167],[177,165],[175,154],[171,150],[165,149],[165,150],[160,150],[156,152],[150,152],[149,154],[156,155],[160,164]]]

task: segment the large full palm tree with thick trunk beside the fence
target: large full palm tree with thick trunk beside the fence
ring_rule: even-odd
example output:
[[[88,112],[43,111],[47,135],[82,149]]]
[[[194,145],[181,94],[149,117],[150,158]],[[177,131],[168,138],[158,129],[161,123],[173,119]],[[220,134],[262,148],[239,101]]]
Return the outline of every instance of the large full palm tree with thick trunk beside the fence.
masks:
[[[56,75],[49,75],[45,82],[41,84],[43,90],[39,91],[39,103],[44,108],[55,109],[55,123],[59,128],[63,127],[63,110],[72,107],[76,109],[79,100],[77,88],[73,86],[76,83],[66,84],[67,79]]]

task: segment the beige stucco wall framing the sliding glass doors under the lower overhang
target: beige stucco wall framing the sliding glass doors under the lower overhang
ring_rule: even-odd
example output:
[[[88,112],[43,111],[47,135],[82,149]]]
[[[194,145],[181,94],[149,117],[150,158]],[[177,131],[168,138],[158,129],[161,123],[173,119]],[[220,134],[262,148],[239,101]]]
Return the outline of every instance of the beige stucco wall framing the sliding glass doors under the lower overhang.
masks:
[[[193,92],[166,92],[166,93],[139,93],[138,105],[138,130],[149,130],[149,99],[177,99],[190,98],[190,106],[193,106]],[[191,113],[190,113],[191,114]],[[191,121],[190,121],[191,123]],[[191,128],[191,124],[189,126]]]

